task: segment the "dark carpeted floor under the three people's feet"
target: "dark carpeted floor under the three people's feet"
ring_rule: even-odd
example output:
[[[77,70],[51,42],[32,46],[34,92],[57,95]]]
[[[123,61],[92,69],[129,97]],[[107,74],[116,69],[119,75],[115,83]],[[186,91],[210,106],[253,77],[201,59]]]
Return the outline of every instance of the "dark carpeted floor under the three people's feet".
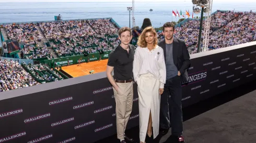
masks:
[[[183,109],[183,136],[186,143],[256,142],[256,81]],[[139,142],[139,128],[126,134]],[[146,142],[173,142],[171,129]],[[120,142],[117,135],[97,141]]]

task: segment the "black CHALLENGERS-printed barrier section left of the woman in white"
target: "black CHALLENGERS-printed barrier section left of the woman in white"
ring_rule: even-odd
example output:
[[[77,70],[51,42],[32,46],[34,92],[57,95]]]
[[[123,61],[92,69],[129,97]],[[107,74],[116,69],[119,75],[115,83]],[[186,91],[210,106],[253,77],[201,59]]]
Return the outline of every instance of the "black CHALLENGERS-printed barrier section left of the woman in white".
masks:
[[[0,142],[94,142],[116,133],[107,78],[2,100],[0,105]],[[127,128],[138,125],[137,109],[135,94]]]

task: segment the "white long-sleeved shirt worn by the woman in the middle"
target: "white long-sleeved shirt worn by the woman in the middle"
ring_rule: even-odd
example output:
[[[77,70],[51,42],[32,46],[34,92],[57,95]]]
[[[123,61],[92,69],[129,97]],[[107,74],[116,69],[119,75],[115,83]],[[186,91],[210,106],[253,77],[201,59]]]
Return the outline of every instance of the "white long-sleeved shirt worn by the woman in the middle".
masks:
[[[160,88],[164,88],[166,82],[166,66],[164,50],[157,46],[149,51],[148,48],[137,47],[133,60],[133,77],[137,81],[140,75],[151,73],[160,81]]]

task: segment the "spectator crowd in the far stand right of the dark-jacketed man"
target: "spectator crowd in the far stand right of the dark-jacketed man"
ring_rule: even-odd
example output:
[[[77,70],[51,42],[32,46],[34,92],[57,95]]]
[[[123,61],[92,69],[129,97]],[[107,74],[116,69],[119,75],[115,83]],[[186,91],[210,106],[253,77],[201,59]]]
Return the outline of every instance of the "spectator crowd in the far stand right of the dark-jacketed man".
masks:
[[[255,27],[255,12],[218,11],[211,19],[208,50],[256,41]],[[200,21],[190,20],[177,27],[174,34],[193,49],[191,54],[196,53],[199,29]],[[201,44],[203,38],[202,36]]]

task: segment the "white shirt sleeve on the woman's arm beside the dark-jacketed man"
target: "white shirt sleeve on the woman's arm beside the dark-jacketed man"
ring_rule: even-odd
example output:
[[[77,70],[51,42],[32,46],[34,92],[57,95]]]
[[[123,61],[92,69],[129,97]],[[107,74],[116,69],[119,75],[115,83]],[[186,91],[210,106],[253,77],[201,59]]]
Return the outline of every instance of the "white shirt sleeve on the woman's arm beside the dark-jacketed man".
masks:
[[[158,63],[160,66],[160,88],[164,88],[166,83],[166,65],[165,65],[165,56],[164,56],[164,50],[161,48]]]

